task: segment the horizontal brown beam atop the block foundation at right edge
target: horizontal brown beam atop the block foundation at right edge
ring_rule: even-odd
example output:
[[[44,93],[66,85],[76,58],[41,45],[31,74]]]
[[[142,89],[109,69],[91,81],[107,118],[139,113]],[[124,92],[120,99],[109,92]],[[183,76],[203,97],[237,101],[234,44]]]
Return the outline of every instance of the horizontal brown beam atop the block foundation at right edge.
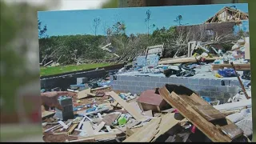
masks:
[[[224,69],[224,68],[233,68],[231,64],[212,64],[212,70]],[[250,63],[243,64],[234,64],[236,70],[250,70]]]

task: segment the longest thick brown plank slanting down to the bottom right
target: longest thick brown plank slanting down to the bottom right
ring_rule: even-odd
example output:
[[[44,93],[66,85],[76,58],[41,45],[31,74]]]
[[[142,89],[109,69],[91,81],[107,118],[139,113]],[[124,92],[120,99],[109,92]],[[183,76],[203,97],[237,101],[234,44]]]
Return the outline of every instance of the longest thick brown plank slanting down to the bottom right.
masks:
[[[162,98],[164,98],[166,102],[170,104],[170,106],[176,108],[178,112],[182,114],[182,116],[192,122],[194,126],[202,131],[202,133],[206,134],[206,136],[210,138],[211,141],[232,141],[228,136],[222,134],[222,132],[218,130],[218,128],[214,126],[214,124],[208,122],[205,118],[201,116],[201,114],[198,114],[198,112],[194,110],[192,106],[190,106],[190,103],[183,100],[183,98],[181,98],[174,91],[170,93],[169,90],[166,89],[166,86],[164,86],[159,90],[159,93],[162,95]]]

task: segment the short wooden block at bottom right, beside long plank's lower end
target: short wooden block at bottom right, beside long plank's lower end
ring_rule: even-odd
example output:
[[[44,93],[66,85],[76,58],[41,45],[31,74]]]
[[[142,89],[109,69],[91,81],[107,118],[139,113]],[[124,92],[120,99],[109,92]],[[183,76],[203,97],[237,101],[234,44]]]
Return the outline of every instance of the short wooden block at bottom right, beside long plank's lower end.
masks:
[[[243,134],[243,131],[234,123],[231,123],[226,126],[221,126],[220,129],[224,134],[227,134],[232,140],[242,136]]]

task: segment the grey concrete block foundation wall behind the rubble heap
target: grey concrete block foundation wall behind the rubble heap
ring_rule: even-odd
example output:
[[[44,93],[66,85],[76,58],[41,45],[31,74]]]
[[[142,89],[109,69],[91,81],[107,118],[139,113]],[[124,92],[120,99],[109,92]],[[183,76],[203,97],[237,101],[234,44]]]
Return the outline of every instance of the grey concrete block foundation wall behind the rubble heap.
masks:
[[[110,78],[113,90],[127,90],[140,94],[144,90],[162,87],[168,83],[186,86],[200,96],[210,97],[211,100],[220,100],[221,102],[226,102],[240,90],[238,80],[224,80],[225,86],[222,86],[222,79],[210,78],[160,78],[126,75],[114,75]]]

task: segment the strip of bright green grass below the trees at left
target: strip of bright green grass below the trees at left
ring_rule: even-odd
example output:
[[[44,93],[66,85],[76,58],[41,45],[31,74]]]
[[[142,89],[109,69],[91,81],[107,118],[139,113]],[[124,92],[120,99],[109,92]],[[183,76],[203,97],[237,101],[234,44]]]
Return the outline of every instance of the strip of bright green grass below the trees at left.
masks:
[[[62,74],[66,72],[72,72],[77,70],[88,70],[102,66],[110,66],[110,63],[94,63],[94,64],[82,64],[82,65],[70,65],[70,66],[52,66],[52,67],[40,67],[40,76]]]

